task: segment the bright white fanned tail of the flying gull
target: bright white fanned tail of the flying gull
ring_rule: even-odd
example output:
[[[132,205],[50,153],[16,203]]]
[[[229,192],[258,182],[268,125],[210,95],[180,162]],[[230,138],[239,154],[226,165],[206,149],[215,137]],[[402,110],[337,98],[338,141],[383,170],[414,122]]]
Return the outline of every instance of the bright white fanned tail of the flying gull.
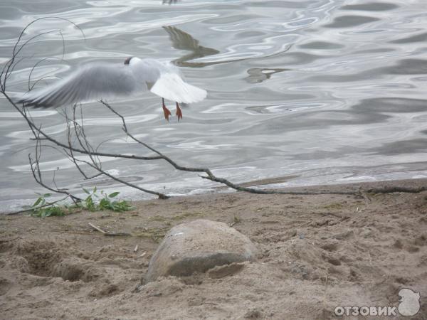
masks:
[[[203,90],[182,80],[176,73],[164,73],[154,82],[150,89],[155,95],[179,103],[194,103],[204,100],[207,95]]]

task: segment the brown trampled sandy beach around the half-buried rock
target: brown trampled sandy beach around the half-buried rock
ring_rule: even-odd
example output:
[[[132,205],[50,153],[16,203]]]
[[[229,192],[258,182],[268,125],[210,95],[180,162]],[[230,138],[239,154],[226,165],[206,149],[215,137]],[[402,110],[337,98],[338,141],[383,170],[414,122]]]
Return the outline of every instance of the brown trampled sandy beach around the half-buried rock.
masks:
[[[413,319],[427,319],[427,192],[371,201],[228,193],[135,207],[1,216],[1,319],[330,319],[335,306],[397,305],[403,287],[421,293]],[[235,223],[259,248],[258,261],[226,277],[168,277],[139,287],[162,234],[198,218]],[[131,235],[108,237],[88,223]]]

